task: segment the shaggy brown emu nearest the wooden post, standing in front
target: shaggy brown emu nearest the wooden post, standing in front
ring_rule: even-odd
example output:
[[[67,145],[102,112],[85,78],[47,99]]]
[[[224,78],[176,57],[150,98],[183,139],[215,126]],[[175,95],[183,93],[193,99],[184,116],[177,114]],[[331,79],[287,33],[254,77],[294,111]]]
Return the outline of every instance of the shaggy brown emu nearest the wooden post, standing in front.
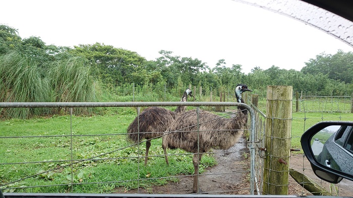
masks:
[[[244,103],[242,93],[245,91],[251,90],[247,85],[237,85],[235,92],[238,102]],[[168,164],[167,148],[180,148],[194,153],[195,172],[192,192],[199,192],[197,177],[202,154],[211,148],[229,149],[236,144],[243,134],[243,129],[246,128],[247,121],[248,111],[240,106],[237,115],[233,118],[220,117],[207,111],[200,111],[198,117],[196,110],[187,111],[175,119],[165,131],[162,141],[165,162]]]

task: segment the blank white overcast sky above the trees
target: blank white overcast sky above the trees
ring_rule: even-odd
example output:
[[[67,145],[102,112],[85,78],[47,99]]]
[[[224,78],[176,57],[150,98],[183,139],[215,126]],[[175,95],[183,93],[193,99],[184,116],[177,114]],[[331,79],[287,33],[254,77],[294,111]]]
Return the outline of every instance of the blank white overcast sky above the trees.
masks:
[[[231,0],[3,1],[0,24],[21,38],[47,45],[113,45],[147,60],[159,50],[198,58],[214,67],[243,65],[244,73],[272,65],[301,70],[310,58],[338,49],[342,41],[309,25]]]

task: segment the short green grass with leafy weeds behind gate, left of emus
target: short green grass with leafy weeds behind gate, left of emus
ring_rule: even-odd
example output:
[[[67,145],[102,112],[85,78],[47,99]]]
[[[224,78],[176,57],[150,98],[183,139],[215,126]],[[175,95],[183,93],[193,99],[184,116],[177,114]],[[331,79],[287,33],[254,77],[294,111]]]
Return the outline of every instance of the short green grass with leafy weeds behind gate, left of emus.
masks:
[[[168,177],[193,174],[192,155],[182,150],[168,150],[169,154],[181,155],[169,156],[169,166],[166,165],[161,139],[152,141],[151,157],[148,165],[144,166],[145,145],[131,147],[126,140],[126,129],[135,118],[134,113],[127,112],[133,111],[132,108],[125,108],[119,114],[73,116],[72,134],[77,136],[72,139],[70,136],[63,137],[71,134],[70,116],[0,121],[1,188],[11,188],[4,189],[5,192],[71,192],[70,183],[73,178],[73,182],[77,183],[73,185],[73,192],[102,193],[113,192],[121,186],[130,189],[163,185],[178,180]],[[27,136],[46,137],[5,138]],[[159,157],[153,157],[155,155]],[[92,160],[67,166],[71,156],[74,160]],[[94,158],[96,156],[99,157]],[[38,163],[13,164],[19,162]],[[203,172],[206,167],[215,164],[212,156],[204,155],[200,170]],[[60,166],[66,167],[52,170]],[[36,176],[19,180],[31,175]],[[16,182],[6,184],[12,181]],[[103,183],[95,184],[99,182]],[[42,185],[45,186],[21,188]]]

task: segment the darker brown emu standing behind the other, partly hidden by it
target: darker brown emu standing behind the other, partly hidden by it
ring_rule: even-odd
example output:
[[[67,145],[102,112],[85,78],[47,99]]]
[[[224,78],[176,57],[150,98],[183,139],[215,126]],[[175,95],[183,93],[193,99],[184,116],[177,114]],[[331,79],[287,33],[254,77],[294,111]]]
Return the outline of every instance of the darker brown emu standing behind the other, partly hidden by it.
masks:
[[[181,102],[188,101],[188,95],[193,97],[192,91],[186,89]],[[159,138],[168,128],[169,124],[186,111],[186,106],[178,106],[174,111],[161,107],[149,107],[142,111],[139,117],[136,117],[128,127],[128,139],[134,143],[146,139],[145,165],[147,164],[148,151],[151,146],[151,140]],[[138,122],[140,123],[140,133],[138,134]]]

